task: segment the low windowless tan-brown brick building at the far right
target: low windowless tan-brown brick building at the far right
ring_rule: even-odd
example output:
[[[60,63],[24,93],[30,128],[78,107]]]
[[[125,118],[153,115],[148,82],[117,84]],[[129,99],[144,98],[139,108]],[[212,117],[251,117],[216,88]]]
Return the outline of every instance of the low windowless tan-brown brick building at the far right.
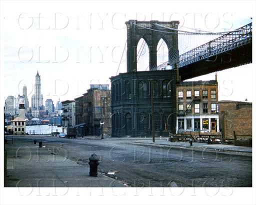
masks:
[[[224,139],[252,138],[252,103],[219,101],[219,129]]]

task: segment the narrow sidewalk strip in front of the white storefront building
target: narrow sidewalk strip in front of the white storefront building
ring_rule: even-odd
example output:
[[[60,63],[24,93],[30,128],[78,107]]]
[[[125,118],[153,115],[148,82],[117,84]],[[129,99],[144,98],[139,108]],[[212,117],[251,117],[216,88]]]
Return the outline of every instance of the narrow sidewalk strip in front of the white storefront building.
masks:
[[[235,146],[230,144],[207,144],[200,142],[192,142],[192,146],[190,146],[189,142],[170,142],[167,138],[156,138],[155,142],[152,142],[152,138],[150,139],[140,139],[134,140],[135,144],[143,144],[150,146],[162,146],[162,147],[172,147],[172,148],[185,148],[185,149],[193,149],[197,151],[209,151],[209,152],[218,152],[218,153],[226,153],[226,154],[237,154],[244,156],[252,156],[252,147],[246,146]]]

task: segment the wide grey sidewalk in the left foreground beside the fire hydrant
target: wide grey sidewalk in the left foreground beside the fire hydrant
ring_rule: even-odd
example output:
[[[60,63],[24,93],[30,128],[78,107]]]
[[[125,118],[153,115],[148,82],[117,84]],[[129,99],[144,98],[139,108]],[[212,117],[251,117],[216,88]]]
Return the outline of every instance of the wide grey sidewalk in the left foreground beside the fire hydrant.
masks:
[[[5,187],[125,187],[98,172],[89,176],[89,165],[55,154],[52,150],[15,139],[5,144],[7,177]]]

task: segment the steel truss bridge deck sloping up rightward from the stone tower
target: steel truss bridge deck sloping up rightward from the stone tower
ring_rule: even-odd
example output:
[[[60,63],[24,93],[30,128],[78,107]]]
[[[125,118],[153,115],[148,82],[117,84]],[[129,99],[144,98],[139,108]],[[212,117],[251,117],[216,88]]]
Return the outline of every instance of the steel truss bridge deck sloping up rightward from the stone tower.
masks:
[[[244,49],[245,48],[245,49]],[[186,75],[189,75],[188,66],[193,67],[193,64],[196,65],[207,65],[207,62],[216,62],[216,65],[219,66],[217,63],[218,56],[229,56],[231,59],[231,55],[233,54],[232,60],[234,57],[239,57],[235,52],[244,52],[242,59],[240,62],[235,64],[246,64],[252,62],[251,52],[252,52],[252,23],[248,23],[236,30],[227,32],[213,40],[208,41],[198,47],[195,47],[183,54],[180,54],[178,58],[171,58],[170,61],[164,62],[157,66],[157,70],[165,69],[167,63],[170,65],[177,64],[179,70],[183,70],[186,72]],[[249,56],[245,56],[249,55]],[[237,59],[235,59],[237,61]],[[205,63],[201,63],[204,61]],[[230,67],[232,67],[232,63],[229,63]],[[236,65],[236,66],[237,66]],[[229,65],[228,65],[229,66]],[[226,65],[223,68],[227,68]],[[211,71],[214,71],[211,70]],[[217,71],[217,70],[215,70]],[[182,71],[181,71],[182,75]],[[197,75],[198,76],[198,75]],[[193,77],[191,75],[191,77]],[[182,76],[181,76],[182,78]],[[188,76],[183,77],[189,78]]]

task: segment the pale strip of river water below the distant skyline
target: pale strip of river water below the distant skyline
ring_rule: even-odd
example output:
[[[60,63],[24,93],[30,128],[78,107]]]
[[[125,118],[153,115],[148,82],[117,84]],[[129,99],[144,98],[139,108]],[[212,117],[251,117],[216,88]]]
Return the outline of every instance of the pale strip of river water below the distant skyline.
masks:
[[[28,134],[50,134],[51,132],[62,132],[62,127],[49,125],[28,125],[26,126],[26,133]]]

